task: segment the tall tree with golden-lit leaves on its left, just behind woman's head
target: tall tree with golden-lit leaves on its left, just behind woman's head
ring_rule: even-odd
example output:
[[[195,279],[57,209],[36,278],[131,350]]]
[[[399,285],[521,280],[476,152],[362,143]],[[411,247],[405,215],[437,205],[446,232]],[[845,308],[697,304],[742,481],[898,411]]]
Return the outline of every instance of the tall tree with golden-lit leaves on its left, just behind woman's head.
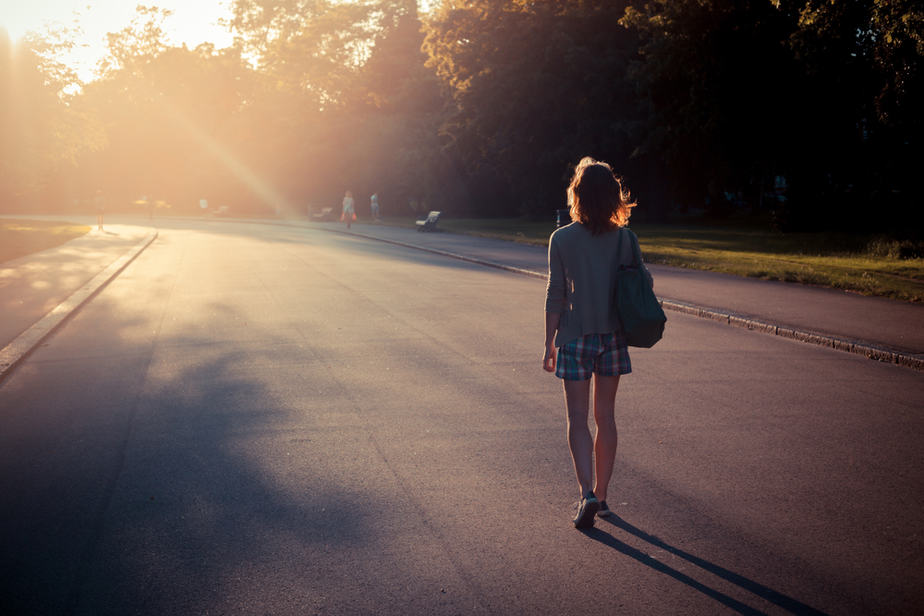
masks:
[[[444,2],[427,23],[430,66],[450,88],[446,148],[482,211],[550,217],[592,154],[627,169],[632,37],[619,2]]]

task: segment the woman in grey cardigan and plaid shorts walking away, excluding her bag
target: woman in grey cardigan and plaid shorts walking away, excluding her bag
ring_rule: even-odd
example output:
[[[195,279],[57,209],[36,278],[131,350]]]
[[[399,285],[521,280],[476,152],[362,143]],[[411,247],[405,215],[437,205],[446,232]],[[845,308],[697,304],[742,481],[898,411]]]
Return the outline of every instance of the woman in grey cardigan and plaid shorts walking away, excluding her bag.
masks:
[[[590,528],[594,515],[612,515],[606,497],[616,459],[616,389],[619,375],[632,371],[613,302],[616,272],[633,262],[637,240],[625,227],[635,203],[608,164],[586,157],[574,169],[568,204],[573,222],[549,241],[542,364],[564,385],[568,446],[581,491],[573,522]],[[591,376],[596,438],[587,425]]]

